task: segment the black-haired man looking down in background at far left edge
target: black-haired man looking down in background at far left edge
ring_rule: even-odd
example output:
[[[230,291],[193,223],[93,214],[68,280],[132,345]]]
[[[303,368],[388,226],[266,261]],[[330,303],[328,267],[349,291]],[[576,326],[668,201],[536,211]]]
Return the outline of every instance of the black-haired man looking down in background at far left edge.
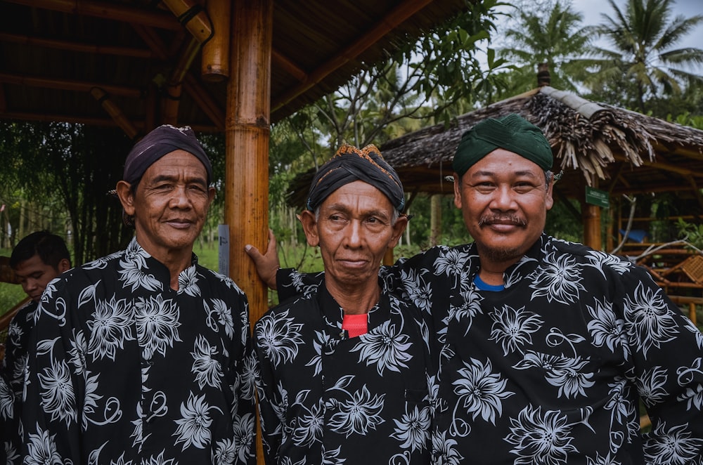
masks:
[[[71,268],[71,256],[63,239],[42,230],[32,232],[18,242],[10,255],[10,267],[22,284],[22,290],[32,299],[12,318],[7,330],[5,358],[0,379],[0,463],[6,454],[8,462],[18,457],[20,436],[17,424],[20,417],[22,392],[25,389],[25,370],[29,335],[34,326],[41,294],[55,277]]]

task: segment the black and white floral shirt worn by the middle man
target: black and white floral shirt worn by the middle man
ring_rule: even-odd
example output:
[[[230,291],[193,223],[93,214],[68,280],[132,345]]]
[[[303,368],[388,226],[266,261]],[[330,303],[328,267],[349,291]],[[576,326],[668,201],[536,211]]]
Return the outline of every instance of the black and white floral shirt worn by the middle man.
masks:
[[[343,316],[322,284],[254,326],[266,464],[428,464],[420,313],[382,292],[366,334],[349,338]]]

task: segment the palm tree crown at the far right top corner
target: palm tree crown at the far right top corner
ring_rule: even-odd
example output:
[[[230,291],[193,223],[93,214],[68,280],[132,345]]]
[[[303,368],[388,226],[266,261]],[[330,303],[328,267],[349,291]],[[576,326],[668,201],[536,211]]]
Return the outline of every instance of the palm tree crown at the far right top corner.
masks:
[[[628,0],[624,10],[614,0],[608,3],[614,16],[601,13],[603,22],[594,30],[614,49],[595,49],[602,58],[596,62],[596,72],[586,79],[588,87],[610,91],[614,98],[619,93],[623,103],[646,112],[647,100],[679,94],[682,83],[703,84],[702,76],[685,69],[703,63],[703,50],[673,48],[703,21],[703,15],[678,15],[669,21],[673,0]]]

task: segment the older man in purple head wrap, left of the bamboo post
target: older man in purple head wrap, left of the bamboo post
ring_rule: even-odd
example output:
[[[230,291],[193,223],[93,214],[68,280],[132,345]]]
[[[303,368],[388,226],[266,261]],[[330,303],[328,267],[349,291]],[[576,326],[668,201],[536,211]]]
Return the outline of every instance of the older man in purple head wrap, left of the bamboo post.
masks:
[[[51,282],[35,313],[23,463],[255,463],[247,299],[193,254],[211,178],[190,128],[129,152],[116,192],[134,238]]]

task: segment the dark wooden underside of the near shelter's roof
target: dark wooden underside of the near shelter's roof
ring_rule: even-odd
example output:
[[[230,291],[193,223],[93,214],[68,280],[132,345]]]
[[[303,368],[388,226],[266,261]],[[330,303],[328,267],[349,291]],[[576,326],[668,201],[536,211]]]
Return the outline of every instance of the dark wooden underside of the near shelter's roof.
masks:
[[[200,44],[193,50],[195,34],[173,12],[174,3],[190,1],[198,0],[0,1],[0,119],[115,126],[122,118],[145,131],[163,121],[179,84],[177,123],[222,131],[226,79],[203,77]],[[334,91],[365,63],[464,6],[464,0],[273,0],[271,122]]]

